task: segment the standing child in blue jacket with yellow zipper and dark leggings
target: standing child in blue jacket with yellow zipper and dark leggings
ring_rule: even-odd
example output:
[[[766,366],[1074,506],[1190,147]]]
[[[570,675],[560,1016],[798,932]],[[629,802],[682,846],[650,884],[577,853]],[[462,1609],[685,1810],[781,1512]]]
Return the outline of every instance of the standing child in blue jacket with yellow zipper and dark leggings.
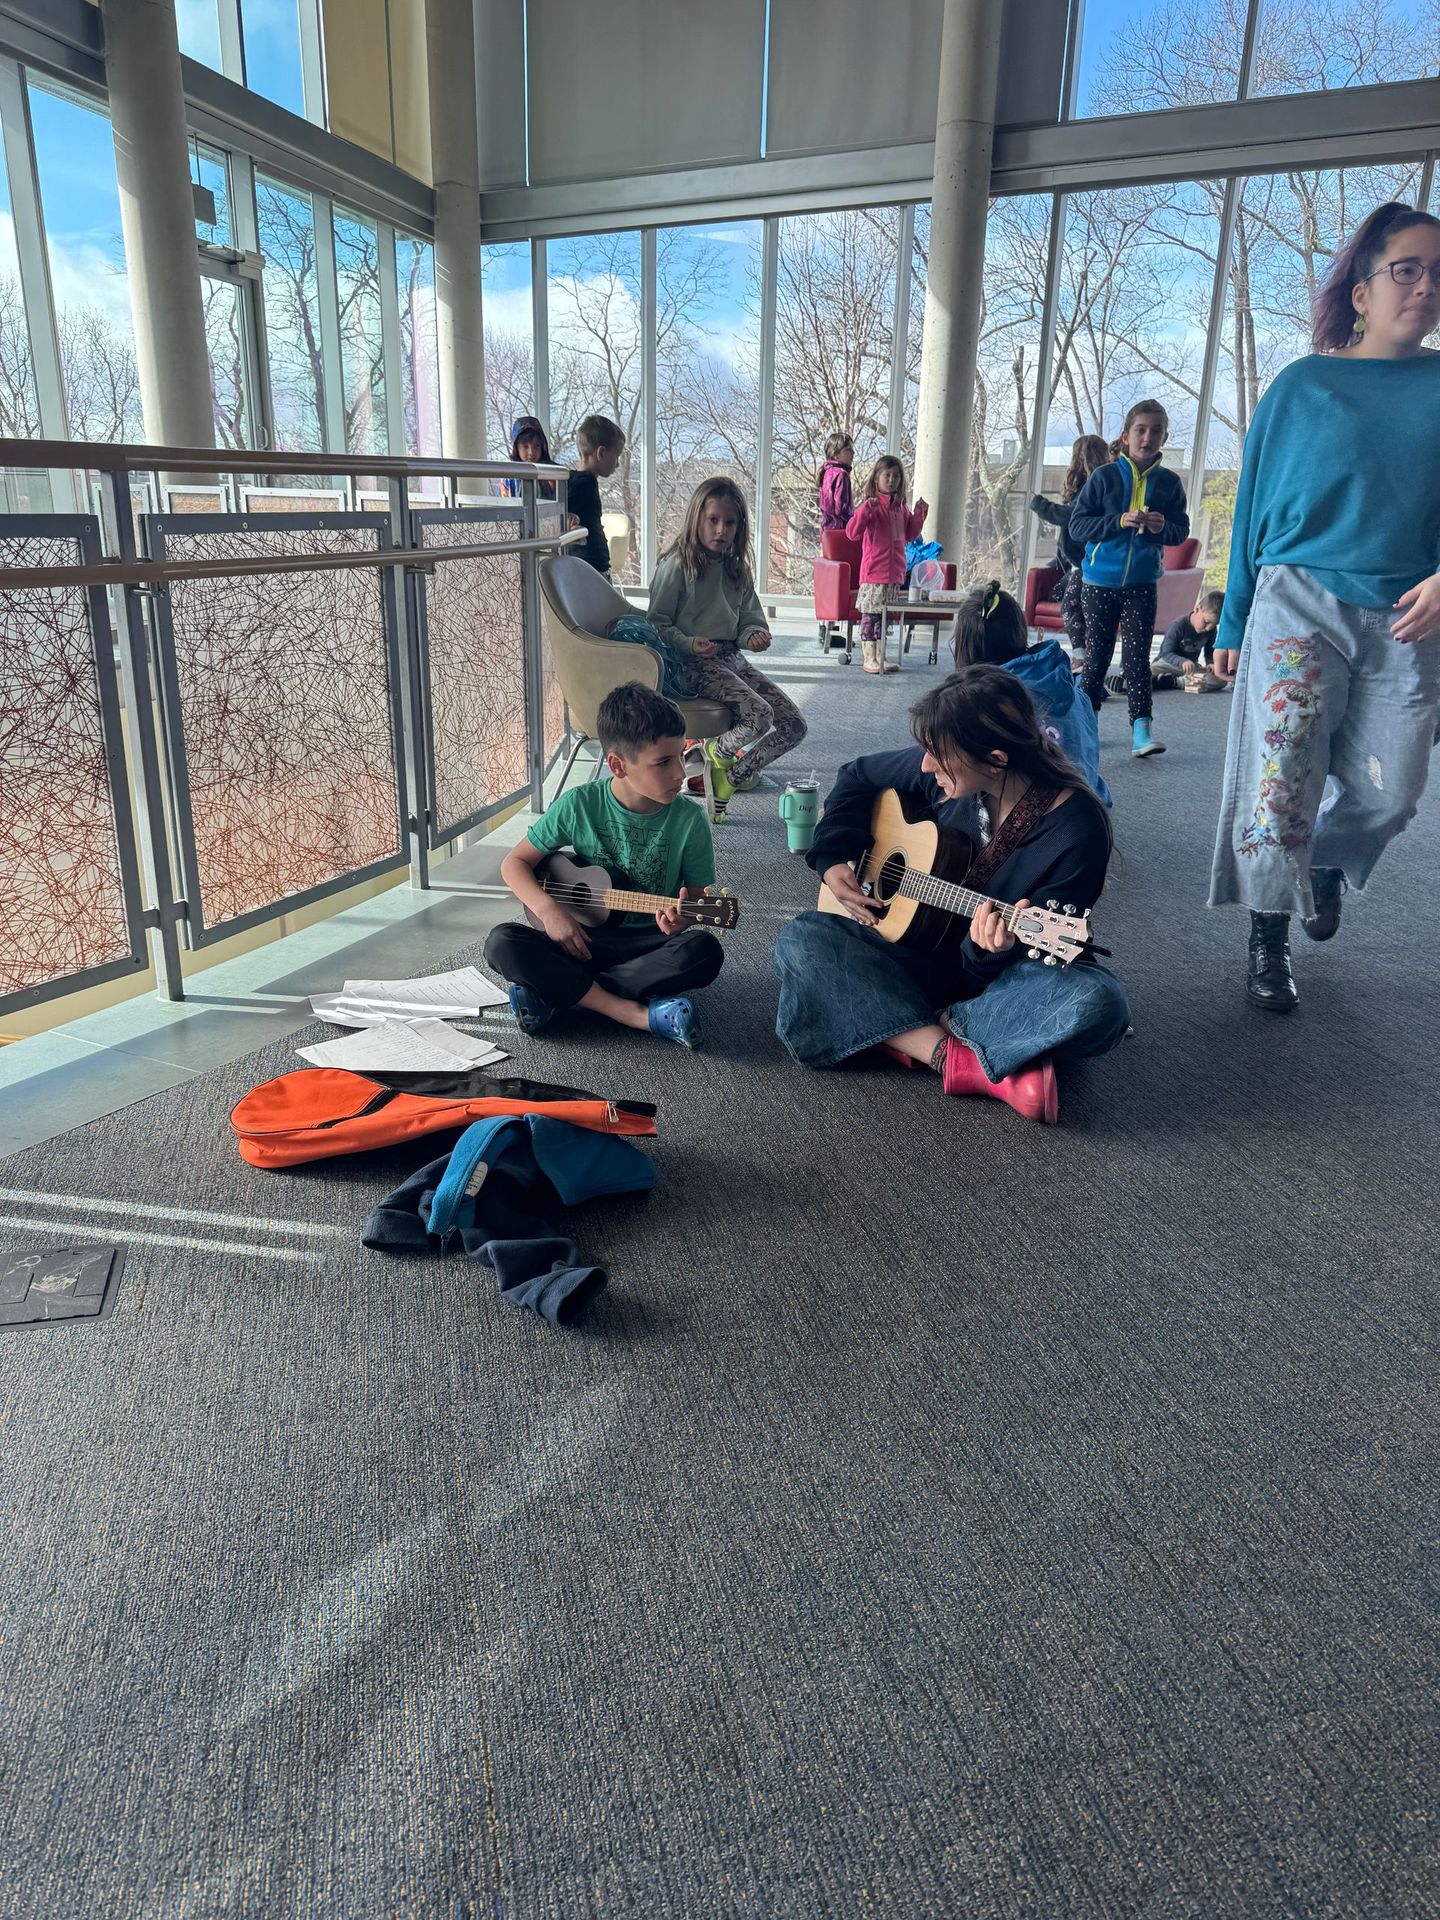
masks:
[[[1156,582],[1165,570],[1165,547],[1190,532],[1185,488],[1160,465],[1169,415],[1158,399],[1139,399],[1125,415],[1116,459],[1100,467],[1079,492],[1069,532],[1085,553],[1085,672],[1081,689],[1100,710],[1104,680],[1121,641],[1131,753],[1137,760],[1165,749],[1150,733],[1150,641],[1156,632]]]

